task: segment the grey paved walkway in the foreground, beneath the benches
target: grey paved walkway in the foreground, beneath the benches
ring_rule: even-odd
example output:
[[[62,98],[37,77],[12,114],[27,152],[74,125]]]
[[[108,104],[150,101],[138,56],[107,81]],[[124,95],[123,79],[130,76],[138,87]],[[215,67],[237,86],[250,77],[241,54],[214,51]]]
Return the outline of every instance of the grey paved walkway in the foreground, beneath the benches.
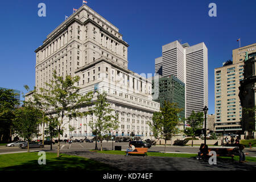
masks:
[[[91,151],[64,152],[69,155],[78,155],[109,164],[122,171],[248,171],[256,170],[256,163],[240,164],[229,159],[217,159],[216,165],[210,165],[195,158],[170,158],[157,156],[124,156],[114,154],[100,154]]]

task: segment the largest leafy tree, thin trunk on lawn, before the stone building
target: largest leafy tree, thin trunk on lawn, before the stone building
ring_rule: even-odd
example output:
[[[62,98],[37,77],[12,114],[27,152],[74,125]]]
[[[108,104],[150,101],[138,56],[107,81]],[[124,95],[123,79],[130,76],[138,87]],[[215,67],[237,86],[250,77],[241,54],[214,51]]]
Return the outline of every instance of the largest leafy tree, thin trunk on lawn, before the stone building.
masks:
[[[65,78],[57,76],[56,71],[53,71],[53,78],[50,83],[46,82],[46,88],[39,88],[36,91],[35,97],[41,102],[41,106],[48,115],[52,125],[56,123],[58,140],[60,141],[61,131],[64,129],[64,119],[68,122],[73,118],[83,117],[87,115],[86,112],[80,112],[78,109],[81,106],[89,104],[92,99],[92,92],[84,95],[80,94],[79,87],[75,86],[79,82],[79,76],[69,76]],[[47,89],[48,88],[48,89]],[[57,145],[57,157],[60,156],[60,142]]]

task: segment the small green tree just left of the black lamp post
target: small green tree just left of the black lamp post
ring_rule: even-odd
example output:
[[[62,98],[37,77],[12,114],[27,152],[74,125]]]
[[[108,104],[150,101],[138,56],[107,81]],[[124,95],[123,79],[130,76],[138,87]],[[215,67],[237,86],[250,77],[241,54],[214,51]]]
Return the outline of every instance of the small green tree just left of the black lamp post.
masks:
[[[184,133],[192,137],[192,147],[193,147],[193,139],[195,139],[196,133],[198,133],[199,130],[203,129],[204,113],[203,112],[195,113],[195,111],[192,111],[192,114],[187,118],[187,123],[191,127],[186,127]]]

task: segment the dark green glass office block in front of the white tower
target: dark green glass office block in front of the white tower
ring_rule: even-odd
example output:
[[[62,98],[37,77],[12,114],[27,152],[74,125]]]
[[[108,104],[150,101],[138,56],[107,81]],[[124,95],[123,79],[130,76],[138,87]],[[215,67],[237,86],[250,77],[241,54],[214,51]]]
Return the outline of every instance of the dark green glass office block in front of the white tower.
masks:
[[[157,77],[156,77],[157,78]],[[155,83],[155,77],[152,78],[152,96],[153,100],[160,103],[163,107],[164,101],[176,102],[177,107],[183,109],[180,117],[185,118],[185,84],[173,75],[159,76]],[[156,88],[156,86],[158,88]],[[155,93],[158,92],[158,93]]]

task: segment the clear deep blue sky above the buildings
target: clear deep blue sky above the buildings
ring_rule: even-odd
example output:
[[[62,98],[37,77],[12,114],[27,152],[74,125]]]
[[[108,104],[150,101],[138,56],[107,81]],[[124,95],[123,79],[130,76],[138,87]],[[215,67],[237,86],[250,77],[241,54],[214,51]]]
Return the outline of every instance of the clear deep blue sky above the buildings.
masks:
[[[209,114],[214,113],[214,68],[232,59],[232,49],[256,43],[255,0],[87,0],[88,6],[119,28],[129,45],[128,68],[154,73],[164,44],[181,39],[208,47]],[[38,4],[46,4],[46,17]],[[216,3],[217,17],[208,16]],[[0,86],[25,92],[35,86],[35,49],[46,36],[79,9],[82,0],[14,0],[0,2]]]

